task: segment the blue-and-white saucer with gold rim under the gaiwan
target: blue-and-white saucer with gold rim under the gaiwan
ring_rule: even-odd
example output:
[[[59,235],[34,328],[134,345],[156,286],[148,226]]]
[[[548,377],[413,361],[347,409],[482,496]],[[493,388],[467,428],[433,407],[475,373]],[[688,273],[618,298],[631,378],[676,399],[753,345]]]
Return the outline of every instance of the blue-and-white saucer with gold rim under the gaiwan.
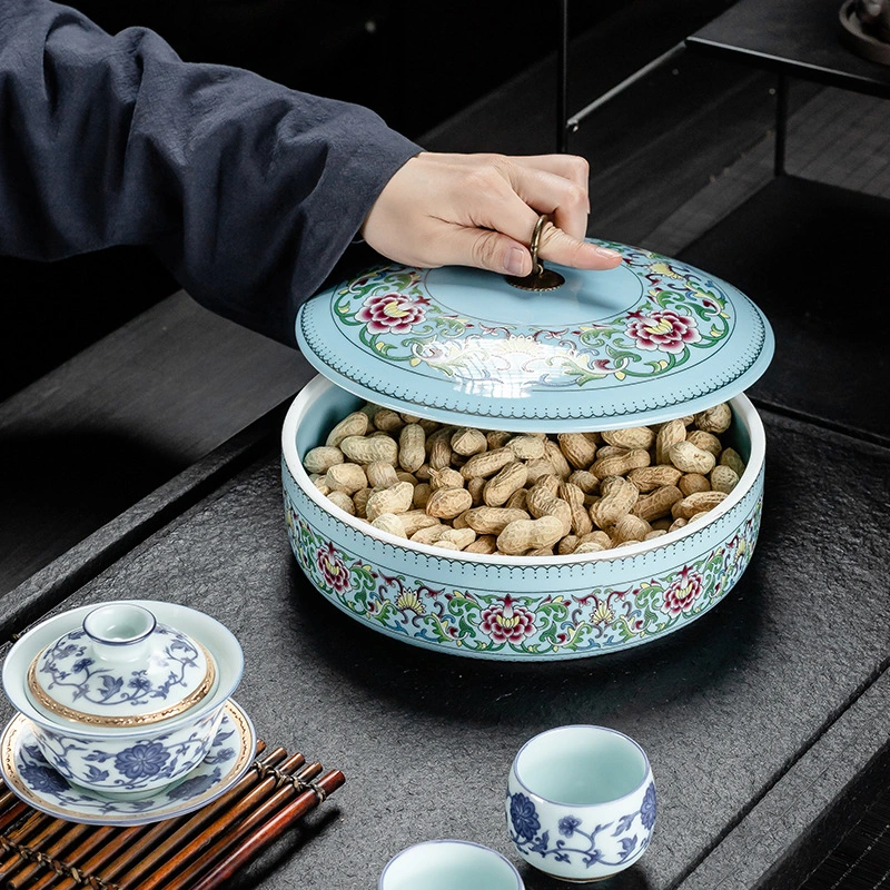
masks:
[[[71,785],[47,763],[27,718],[17,714],[0,738],[0,771],[9,789],[36,810],[92,825],[144,825],[172,819],[225,794],[248,770],[256,752],[256,731],[231,699],[200,765],[144,800],[111,800]]]

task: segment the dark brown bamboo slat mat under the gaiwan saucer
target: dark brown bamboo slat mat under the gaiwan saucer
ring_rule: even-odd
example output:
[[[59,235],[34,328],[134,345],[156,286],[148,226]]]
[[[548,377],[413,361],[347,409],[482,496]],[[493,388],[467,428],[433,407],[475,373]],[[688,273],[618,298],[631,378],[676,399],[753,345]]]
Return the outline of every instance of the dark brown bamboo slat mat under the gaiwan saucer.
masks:
[[[199,810],[131,828],[38,812],[0,782],[0,880],[6,890],[212,890],[345,781],[285,749],[257,759]]]

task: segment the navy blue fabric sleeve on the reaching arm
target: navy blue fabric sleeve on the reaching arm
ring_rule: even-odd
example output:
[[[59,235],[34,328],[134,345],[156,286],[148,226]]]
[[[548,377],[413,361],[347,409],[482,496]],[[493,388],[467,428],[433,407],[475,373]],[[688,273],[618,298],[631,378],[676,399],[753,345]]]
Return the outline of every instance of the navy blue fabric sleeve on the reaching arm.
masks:
[[[150,246],[208,308],[294,343],[419,147],[358,106],[182,62],[49,0],[0,0],[0,254]]]

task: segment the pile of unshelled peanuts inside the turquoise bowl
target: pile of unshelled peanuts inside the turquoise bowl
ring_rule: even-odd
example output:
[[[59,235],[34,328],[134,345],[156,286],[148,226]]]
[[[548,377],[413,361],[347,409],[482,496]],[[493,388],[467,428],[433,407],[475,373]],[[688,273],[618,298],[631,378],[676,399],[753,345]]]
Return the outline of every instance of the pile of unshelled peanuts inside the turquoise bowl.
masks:
[[[728,404],[653,426],[517,434],[365,405],[304,457],[316,487],[375,528],[466,553],[552,556],[651,541],[698,521],[744,464]]]

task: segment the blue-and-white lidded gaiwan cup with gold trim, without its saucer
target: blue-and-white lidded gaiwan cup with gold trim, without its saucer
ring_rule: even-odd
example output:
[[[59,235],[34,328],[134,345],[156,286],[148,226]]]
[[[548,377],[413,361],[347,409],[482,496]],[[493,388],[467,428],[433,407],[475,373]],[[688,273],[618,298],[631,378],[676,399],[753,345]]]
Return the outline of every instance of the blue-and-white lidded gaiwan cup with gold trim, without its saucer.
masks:
[[[139,800],[201,763],[243,668],[238,641],[208,615],[120,601],[30,630],[7,656],[3,688],[63,779]]]

